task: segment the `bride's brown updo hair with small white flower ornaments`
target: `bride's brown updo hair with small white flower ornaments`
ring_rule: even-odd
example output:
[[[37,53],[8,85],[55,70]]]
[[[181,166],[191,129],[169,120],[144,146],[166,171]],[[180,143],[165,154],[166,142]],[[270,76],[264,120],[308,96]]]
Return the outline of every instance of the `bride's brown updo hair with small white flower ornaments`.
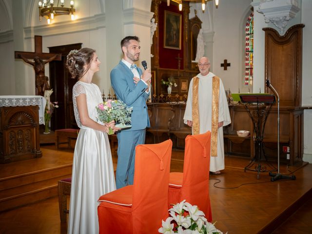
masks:
[[[89,70],[90,63],[93,59],[93,55],[96,51],[90,48],[81,48],[80,50],[71,50],[67,55],[66,66],[68,71],[72,75],[72,78],[78,80],[83,77]],[[87,67],[87,69],[84,69]]]

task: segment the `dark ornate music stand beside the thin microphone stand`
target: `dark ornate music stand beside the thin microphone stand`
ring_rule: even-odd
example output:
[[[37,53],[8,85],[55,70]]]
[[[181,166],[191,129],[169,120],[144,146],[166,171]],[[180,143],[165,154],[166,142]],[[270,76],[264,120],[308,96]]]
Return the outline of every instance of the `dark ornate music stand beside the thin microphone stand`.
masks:
[[[275,103],[275,96],[272,94],[240,94],[239,98],[242,103],[245,103],[245,107],[254,124],[254,158],[244,168],[244,171],[246,172],[247,170],[258,172],[257,179],[259,179],[260,172],[277,171],[277,169],[269,162],[261,164],[261,153],[267,161],[263,148],[263,132],[269,111],[271,110],[272,105]],[[248,107],[247,104],[252,103],[256,103],[256,106]],[[264,104],[271,104],[270,108],[267,109],[267,106]],[[271,169],[267,170],[265,164]],[[254,169],[251,169],[253,166]]]

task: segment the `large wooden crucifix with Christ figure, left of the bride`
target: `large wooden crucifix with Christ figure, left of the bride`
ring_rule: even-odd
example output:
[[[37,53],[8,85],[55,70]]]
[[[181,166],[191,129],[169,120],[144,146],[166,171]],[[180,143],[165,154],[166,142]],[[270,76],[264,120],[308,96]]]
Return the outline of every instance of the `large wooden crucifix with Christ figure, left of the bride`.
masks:
[[[49,78],[45,76],[44,66],[52,60],[61,61],[61,55],[42,53],[42,37],[35,36],[35,52],[15,51],[15,59],[23,59],[34,67],[36,95],[44,96],[44,91],[50,89]]]

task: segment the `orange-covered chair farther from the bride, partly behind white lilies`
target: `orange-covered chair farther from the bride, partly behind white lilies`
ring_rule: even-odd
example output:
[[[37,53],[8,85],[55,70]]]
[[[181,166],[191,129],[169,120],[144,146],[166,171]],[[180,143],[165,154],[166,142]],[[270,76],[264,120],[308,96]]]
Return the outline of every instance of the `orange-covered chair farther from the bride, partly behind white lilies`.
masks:
[[[185,138],[183,173],[170,173],[168,208],[185,199],[198,206],[212,222],[209,198],[210,141],[210,131]]]

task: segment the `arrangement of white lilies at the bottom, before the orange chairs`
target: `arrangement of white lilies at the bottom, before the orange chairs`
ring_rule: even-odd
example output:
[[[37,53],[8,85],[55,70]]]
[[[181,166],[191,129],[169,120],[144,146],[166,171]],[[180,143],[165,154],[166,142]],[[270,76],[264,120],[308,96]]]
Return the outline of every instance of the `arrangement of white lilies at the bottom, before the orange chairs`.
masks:
[[[163,234],[222,234],[215,225],[208,222],[205,214],[185,200],[169,209],[171,217],[162,220],[158,229]]]

